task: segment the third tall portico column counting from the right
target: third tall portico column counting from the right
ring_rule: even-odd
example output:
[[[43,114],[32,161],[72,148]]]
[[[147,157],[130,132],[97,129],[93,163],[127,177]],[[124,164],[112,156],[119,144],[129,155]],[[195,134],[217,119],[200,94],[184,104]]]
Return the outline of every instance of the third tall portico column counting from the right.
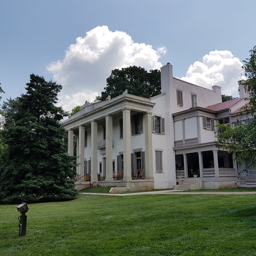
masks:
[[[113,180],[113,117],[106,115],[106,180]]]

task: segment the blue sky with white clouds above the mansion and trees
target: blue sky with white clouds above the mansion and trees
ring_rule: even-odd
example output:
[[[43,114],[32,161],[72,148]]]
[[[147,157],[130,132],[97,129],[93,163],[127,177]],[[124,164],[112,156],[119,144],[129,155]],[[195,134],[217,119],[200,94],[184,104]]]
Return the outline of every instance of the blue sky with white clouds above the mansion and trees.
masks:
[[[2,101],[35,73],[63,85],[70,110],[100,94],[114,68],[167,62],[175,77],[238,96],[255,10],[254,0],[0,0]]]

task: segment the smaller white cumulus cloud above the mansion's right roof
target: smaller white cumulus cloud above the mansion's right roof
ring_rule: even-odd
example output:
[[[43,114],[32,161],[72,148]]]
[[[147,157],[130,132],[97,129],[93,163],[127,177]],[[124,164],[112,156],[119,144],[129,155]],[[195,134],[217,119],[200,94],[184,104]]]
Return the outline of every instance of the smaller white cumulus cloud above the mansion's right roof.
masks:
[[[242,63],[239,58],[233,56],[230,51],[211,51],[204,55],[203,61],[195,61],[189,66],[186,76],[182,80],[197,84],[208,89],[213,85],[221,87],[221,93],[225,95],[239,96],[238,83],[241,76]]]

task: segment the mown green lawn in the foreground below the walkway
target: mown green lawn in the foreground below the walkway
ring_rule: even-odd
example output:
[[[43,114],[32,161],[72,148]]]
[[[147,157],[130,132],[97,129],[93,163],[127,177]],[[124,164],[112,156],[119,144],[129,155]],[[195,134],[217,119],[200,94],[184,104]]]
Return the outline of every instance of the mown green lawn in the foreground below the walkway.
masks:
[[[256,195],[80,195],[0,205],[0,255],[255,256]]]

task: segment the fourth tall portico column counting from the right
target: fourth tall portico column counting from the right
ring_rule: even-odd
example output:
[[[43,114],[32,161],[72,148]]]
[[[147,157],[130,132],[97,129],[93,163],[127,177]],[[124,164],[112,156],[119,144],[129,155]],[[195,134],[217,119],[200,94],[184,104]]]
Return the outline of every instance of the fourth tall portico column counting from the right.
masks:
[[[97,178],[97,150],[98,150],[98,123],[91,121],[91,181],[96,182]]]

